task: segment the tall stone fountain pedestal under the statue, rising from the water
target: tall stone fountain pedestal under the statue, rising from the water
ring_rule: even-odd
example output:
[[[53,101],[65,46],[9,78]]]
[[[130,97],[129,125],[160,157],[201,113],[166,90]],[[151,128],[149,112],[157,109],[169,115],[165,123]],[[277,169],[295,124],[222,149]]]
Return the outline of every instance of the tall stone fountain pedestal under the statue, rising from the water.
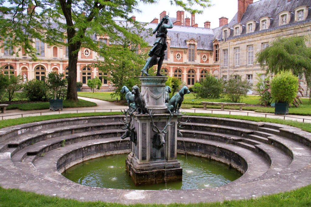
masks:
[[[169,121],[165,106],[165,81],[167,77],[143,76],[142,90],[146,105],[152,109],[153,122],[163,130]],[[159,148],[154,144],[156,137],[153,132],[149,115],[134,115],[133,127],[137,133],[137,145],[132,142],[131,153],[126,159],[126,171],[135,185],[154,184],[182,180],[183,169],[177,160],[177,127],[182,115],[174,115],[167,126],[165,144]]]

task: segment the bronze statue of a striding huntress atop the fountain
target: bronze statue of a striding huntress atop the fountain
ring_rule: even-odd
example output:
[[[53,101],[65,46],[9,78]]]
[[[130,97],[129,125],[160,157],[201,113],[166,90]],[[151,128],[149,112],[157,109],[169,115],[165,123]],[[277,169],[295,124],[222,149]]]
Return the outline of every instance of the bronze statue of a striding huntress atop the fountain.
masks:
[[[169,16],[165,16],[162,18],[160,23],[156,26],[156,29],[153,30],[153,34],[157,32],[156,41],[148,53],[150,57],[148,57],[146,60],[146,64],[144,68],[142,69],[142,75],[143,74],[149,75],[148,69],[158,63],[158,70],[157,70],[156,76],[164,76],[160,74],[160,70],[161,70],[161,66],[164,60],[164,56],[165,56],[164,51],[167,48],[167,45],[166,45],[167,29],[171,29],[171,28],[173,28],[173,23],[169,19]]]

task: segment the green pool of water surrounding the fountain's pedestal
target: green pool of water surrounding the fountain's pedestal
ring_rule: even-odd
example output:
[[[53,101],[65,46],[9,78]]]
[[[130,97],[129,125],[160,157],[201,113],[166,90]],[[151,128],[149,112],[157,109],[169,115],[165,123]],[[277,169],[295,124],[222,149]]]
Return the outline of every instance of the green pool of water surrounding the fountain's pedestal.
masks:
[[[177,156],[183,168],[183,180],[154,185],[135,186],[125,171],[127,154],[87,160],[67,169],[63,176],[81,185],[132,190],[202,189],[225,185],[242,176],[226,164],[192,155]]]

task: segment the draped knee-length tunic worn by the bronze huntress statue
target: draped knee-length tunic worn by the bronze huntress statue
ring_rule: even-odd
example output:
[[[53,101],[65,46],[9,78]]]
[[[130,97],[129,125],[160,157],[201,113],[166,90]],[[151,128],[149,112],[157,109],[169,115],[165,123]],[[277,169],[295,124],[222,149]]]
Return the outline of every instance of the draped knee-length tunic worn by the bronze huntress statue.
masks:
[[[156,41],[153,44],[153,47],[149,51],[148,55],[151,57],[153,54],[156,54],[158,57],[164,56],[164,51],[167,48],[166,45],[166,34],[167,29],[162,27],[162,25],[157,30]]]

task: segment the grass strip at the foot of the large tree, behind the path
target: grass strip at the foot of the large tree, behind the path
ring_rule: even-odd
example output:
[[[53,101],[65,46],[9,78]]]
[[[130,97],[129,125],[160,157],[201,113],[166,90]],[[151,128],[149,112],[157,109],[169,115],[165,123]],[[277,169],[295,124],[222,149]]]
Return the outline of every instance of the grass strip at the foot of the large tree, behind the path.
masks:
[[[79,101],[77,102],[63,100],[63,108],[91,107],[91,106],[97,106],[97,104],[91,101],[85,101],[82,99],[79,99]],[[19,110],[27,111],[27,110],[43,110],[43,109],[49,109],[49,108],[50,108],[49,102],[39,102],[39,103],[11,104],[10,106],[7,107],[7,110],[19,109]]]

